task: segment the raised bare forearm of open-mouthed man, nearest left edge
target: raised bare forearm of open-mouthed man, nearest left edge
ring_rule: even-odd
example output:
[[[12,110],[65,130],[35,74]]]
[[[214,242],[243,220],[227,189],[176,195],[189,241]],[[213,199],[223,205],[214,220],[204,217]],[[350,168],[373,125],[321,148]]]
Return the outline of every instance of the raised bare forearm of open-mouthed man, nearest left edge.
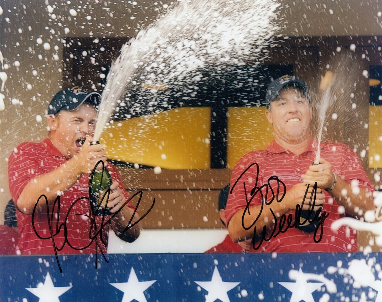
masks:
[[[75,161],[70,159],[57,169],[31,179],[19,195],[16,205],[21,212],[31,215],[42,194],[47,197],[49,205],[52,205],[58,193],[67,191],[79,176]],[[46,210],[45,198],[41,198],[36,211],[44,212],[44,209]]]

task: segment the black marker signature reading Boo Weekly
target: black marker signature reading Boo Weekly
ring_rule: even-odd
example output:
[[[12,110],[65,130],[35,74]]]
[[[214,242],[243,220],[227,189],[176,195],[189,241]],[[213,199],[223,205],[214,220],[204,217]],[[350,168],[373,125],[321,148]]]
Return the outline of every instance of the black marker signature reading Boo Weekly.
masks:
[[[276,197],[276,200],[277,202],[281,202],[285,196],[285,193],[286,193],[286,186],[285,184],[280,180],[278,179],[277,176],[271,176],[267,183],[266,184],[263,184],[261,187],[257,186],[257,182],[258,182],[258,179],[259,179],[259,165],[257,163],[252,163],[251,165],[248,166],[248,168],[246,168],[243,173],[241,173],[241,175],[239,176],[239,178],[235,181],[235,184],[233,184],[232,188],[231,188],[231,191],[230,191],[230,194],[232,194],[232,191],[233,189],[235,188],[236,184],[238,183],[238,181],[244,176],[244,174],[252,167],[256,165],[256,168],[257,168],[257,172],[256,172],[256,182],[255,182],[255,185],[253,187],[253,189],[251,190],[251,198],[248,200],[248,197],[247,197],[247,189],[246,189],[246,185],[245,185],[245,182],[243,181],[243,186],[244,186],[244,194],[245,194],[245,198],[246,198],[246,207],[244,209],[244,212],[243,212],[243,216],[241,217],[241,224],[243,226],[244,229],[248,230],[248,229],[251,229],[257,222],[257,220],[259,219],[261,213],[262,213],[262,210],[264,208],[264,203],[265,205],[270,205],[273,200],[275,199]],[[277,182],[277,193],[275,195],[275,192],[274,192],[274,189],[272,188],[271,184],[270,184],[270,181],[272,180],[275,180]],[[279,194],[280,194],[280,185],[283,186],[284,188],[284,192],[282,194],[282,196],[279,198]],[[263,192],[261,191],[263,188],[266,189],[266,193],[265,193],[265,196],[263,194]],[[270,189],[270,191],[272,192],[272,198],[268,201],[268,188]],[[256,229],[257,229],[257,226],[254,226],[254,230],[253,230],[253,248],[255,250],[259,249],[262,242],[263,241],[270,241],[270,239],[272,237],[276,237],[278,234],[280,233],[285,233],[286,230],[288,228],[297,228],[298,225],[303,225],[305,224],[307,221],[309,223],[311,223],[312,221],[317,221],[319,222],[317,224],[317,227],[316,227],[316,230],[314,231],[314,236],[313,236],[313,240],[314,242],[318,243],[321,241],[322,239],[322,235],[323,235],[323,231],[324,231],[324,221],[325,219],[329,216],[329,213],[326,213],[326,211],[324,211],[322,213],[322,215],[320,216],[320,213],[321,213],[321,208],[319,208],[318,210],[316,210],[316,216],[314,216],[314,218],[310,219],[310,218],[306,218],[304,221],[300,221],[300,216],[301,216],[301,210],[302,210],[302,206],[304,205],[304,202],[305,202],[305,199],[306,199],[306,195],[308,194],[308,189],[309,189],[309,184],[306,188],[306,191],[305,191],[305,195],[304,195],[304,198],[303,198],[303,201],[301,203],[301,206],[299,204],[296,205],[296,209],[295,209],[295,222],[292,223],[292,220],[293,220],[293,214],[289,213],[288,216],[286,216],[285,214],[281,215],[280,216],[280,222],[278,223],[277,221],[277,217],[275,215],[275,213],[272,211],[272,208],[269,208],[270,212],[272,213],[272,216],[275,220],[275,223],[274,223],[274,227],[273,227],[273,231],[272,233],[269,235],[269,237],[266,237],[266,234],[267,234],[267,226],[263,226],[263,229],[262,229],[262,234],[261,234],[261,238],[259,240],[259,238],[256,238],[257,242],[259,242],[259,244],[257,245],[257,247],[255,247],[255,237],[256,237]],[[254,222],[250,225],[250,226],[245,226],[244,225],[244,215],[246,214],[246,212],[248,211],[248,215],[251,215],[251,213],[249,212],[249,206],[253,200],[253,198],[256,196],[256,194],[260,193],[261,195],[261,208],[260,208],[260,211],[259,211],[259,214],[257,215],[256,219],[254,220]],[[315,205],[315,201],[316,201],[316,194],[317,194],[317,182],[314,184],[313,186],[313,190],[312,190],[312,193],[311,193],[311,196],[309,198],[309,209],[308,209],[308,217],[311,216],[312,212],[314,211],[314,205]],[[285,229],[282,229],[284,226],[285,226],[285,223],[286,223],[286,228]],[[278,231],[277,233],[275,234],[275,231],[276,231],[276,228],[277,228],[277,224],[278,224]],[[321,228],[320,228],[321,227]],[[318,229],[320,228],[320,236],[318,239],[316,239],[316,235],[317,235],[317,232],[318,232]]]

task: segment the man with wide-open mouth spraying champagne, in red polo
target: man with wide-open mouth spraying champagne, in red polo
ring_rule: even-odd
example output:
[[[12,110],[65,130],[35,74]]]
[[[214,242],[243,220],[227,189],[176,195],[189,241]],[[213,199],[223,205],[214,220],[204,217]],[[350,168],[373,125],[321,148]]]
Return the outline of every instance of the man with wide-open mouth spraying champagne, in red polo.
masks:
[[[18,254],[54,254],[55,249],[58,254],[107,251],[108,225],[100,229],[111,216],[103,218],[101,211],[101,215],[92,215],[89,201],[80,199],[89,198],[89,173],[98,161],[104,161],[112,179],[110,212],[117,212],[129,197],[118,171],[106,162],[104,146],[90,144],[99,100],[99,94],[89,94],[79,87],[58,92],[48,108],[49,136],[39,143],[24,142],[13,150],[8,160],[8,181],[17,208]],[[81,140],[85,140],[83,145]],[[96,170],[102,171],[102,165]],[[49,204],[50,223],[42,194]],[[58,204],[53,208],[58,195],[59,209]],[[139,236],[138,224],[123,233],[133,209],[127,203],[110,221],[117,236],[128,242]],[[137,220],[135,214],[132,223]]]

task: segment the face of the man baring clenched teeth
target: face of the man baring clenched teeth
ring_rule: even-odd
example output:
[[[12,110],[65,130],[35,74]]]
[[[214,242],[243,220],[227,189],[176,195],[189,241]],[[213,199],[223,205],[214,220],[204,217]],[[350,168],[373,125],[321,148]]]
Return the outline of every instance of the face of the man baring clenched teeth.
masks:
[[[310,135],[312,108],[297,89],[283,89],[265,114],[273,125],[274,135],[284,142],[298,144]]]

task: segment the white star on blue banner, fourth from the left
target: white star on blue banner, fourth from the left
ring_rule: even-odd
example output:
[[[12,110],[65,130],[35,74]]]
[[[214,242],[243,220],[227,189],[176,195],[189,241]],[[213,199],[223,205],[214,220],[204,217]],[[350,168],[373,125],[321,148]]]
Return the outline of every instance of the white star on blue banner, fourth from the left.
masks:
[[[324,285],[321,282],[306,282],[307,279],[304,276],[303,270],[298,271],[298,275],[296,278],[296,282],[278,282],[289,291],[292,292],[292,297],[290,298],[290,302],[300,302],[301,300],[305,302],[314,302],[312,292],[316,291],[319,287]]]

